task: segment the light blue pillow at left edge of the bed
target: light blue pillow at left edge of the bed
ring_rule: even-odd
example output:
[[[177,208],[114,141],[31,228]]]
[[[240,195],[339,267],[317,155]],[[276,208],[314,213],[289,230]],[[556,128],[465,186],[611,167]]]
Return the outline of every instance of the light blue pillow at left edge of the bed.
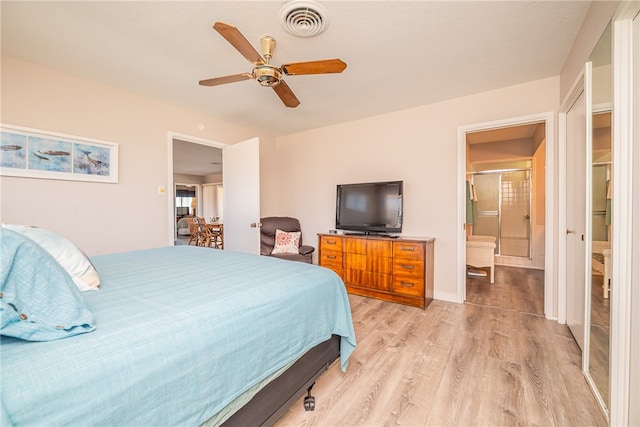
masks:
[[[0,228],[0,252],[0,335],[52,341],[95,329],[71,276],[45,249]]]

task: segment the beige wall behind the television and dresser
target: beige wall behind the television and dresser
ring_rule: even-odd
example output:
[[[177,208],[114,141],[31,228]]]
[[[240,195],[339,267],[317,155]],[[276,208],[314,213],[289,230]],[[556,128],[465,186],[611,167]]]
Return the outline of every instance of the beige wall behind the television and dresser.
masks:
[[[371,117],[277,140],[280,211],[303,239],[334,227],[336,184],[404,181],[406,236],[435,237],[435,296],[455,300],[458,126],[555,111],[558,78]]]

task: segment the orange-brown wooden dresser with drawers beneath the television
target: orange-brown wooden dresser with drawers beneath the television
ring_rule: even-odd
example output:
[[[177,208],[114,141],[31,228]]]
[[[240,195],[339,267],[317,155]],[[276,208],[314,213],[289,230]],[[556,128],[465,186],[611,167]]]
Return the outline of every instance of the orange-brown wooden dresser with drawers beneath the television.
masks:
[[[318,234],[318,264],[347,291],[415,307],[433,301],[434,238]]]

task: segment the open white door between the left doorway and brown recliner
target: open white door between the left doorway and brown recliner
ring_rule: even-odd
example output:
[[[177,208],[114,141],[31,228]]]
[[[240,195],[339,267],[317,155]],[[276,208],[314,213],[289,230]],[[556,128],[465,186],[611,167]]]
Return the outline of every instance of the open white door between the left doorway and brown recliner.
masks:
[[[260,139],[222,150],[224,249],[260,254]]]

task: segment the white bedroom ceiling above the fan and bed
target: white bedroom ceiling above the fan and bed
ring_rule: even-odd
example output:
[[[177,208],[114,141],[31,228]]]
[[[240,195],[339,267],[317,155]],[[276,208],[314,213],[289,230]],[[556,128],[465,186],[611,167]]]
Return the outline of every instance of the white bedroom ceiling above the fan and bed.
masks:
[[[2,53],[284,135],[558,75],[589,1],[322,1],[328,29],[289,35],[285,1],[6,1]],[[275,65],[340,58],[342,74],[288,76],[286,108],[212,29],[238,27]]]

